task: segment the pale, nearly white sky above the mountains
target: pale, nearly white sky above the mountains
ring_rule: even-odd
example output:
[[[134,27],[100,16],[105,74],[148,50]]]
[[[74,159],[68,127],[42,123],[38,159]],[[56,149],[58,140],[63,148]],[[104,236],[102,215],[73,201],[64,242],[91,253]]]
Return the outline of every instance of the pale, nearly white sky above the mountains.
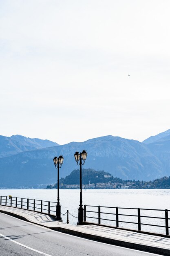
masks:
[[[170,0],[0,0],[0,135],[168,129]]]

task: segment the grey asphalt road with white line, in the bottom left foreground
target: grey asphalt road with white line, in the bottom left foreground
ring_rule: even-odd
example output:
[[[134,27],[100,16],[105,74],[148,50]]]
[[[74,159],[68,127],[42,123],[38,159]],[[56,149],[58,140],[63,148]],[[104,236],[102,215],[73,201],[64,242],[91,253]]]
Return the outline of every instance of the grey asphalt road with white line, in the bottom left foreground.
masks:
[[[0,213],[0,256],[153,256],[52,231]]]

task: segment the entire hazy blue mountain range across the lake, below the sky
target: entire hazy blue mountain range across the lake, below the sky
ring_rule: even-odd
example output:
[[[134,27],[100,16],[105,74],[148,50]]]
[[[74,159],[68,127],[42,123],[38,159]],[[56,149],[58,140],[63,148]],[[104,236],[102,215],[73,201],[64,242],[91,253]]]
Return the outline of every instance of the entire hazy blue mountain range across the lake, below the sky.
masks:
[[[104,170],[124,180],[148,181],[170,175],[170,130],[143,142],[108,135],[65,145],[13,135],[0,136],[0,188],[55,183],[53,157],[63,155],[60,177],[66,177],[78,167],[75,151],[82,150],[88,153],[84,168]]]

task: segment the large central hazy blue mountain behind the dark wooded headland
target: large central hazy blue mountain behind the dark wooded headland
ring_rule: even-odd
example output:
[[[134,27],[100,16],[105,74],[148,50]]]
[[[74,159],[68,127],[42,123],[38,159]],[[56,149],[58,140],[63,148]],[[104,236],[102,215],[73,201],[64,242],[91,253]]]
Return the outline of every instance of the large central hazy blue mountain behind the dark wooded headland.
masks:
[[[53,157],[63,155],[60,177],[65,177],[78,167],[74,153],[82,150],[88,153],[84,168],[104,170],[124,180],[152,180],[166,174],[159,157],[146,144],[109,135],[1,158],[0,187],[55,183],[57,170]]]

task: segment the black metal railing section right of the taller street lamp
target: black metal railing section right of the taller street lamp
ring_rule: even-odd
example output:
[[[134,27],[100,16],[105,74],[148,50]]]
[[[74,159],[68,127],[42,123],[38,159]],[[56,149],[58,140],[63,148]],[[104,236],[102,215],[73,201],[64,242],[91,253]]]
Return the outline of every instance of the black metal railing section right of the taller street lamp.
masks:
[[[132,211],[131,214],[129,213],[130,211]],[[97,223],[95,222],[95,224],[108,225],[108,223],[111,223],[109,225],[117,228],[124,228],[124,224],[126,224],[126,227],[124,229],[132,229],[133,225],[133,227],[135,226],[133,230],[136,231],[141,231],[141,227],[142,231],[145,231],[144,226],[148,226],[150,228],[156,227],[156,233],[163,234],[163,230],[165,230],[165,234],[166,236],[168,236],[168,220],[170,220],[170,218],[168,218],[169,211],[170,210],[167,209],[162,210],[144,208],[105,207],[100,205],[84,205],[84,222],[88,222],[86,221],[86,219],[88,218],[96,220]],[[150,212],[150,216],[148,216],[148,212]],[[154,233],[150,230],[149,232]]]

